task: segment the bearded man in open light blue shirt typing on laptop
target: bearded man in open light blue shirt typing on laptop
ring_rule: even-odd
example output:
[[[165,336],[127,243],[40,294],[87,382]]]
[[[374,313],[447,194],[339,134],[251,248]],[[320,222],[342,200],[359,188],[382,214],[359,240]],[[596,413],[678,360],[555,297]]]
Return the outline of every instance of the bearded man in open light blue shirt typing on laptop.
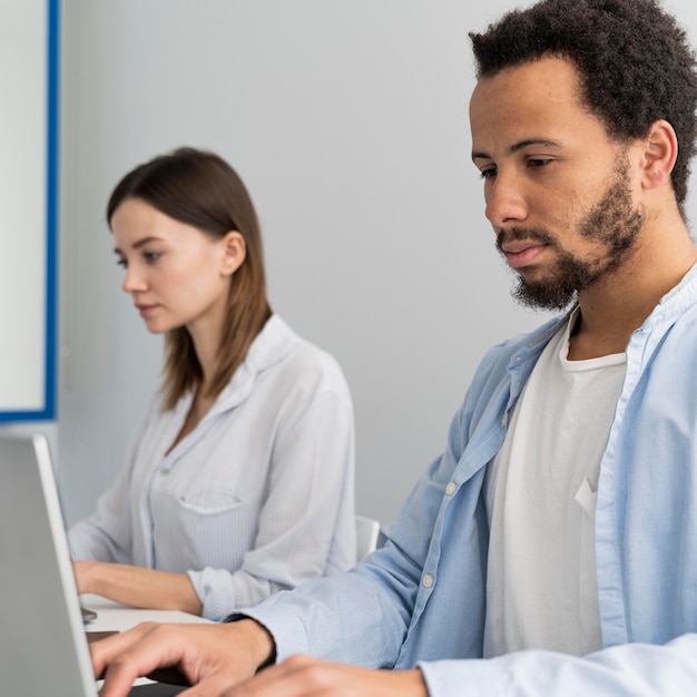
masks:
[[[192,696],[697,691],[693,52],[655,0],[471,38],[487,217],[517,296],[570,311],[487,354],[384,548],[238,621],[97,644],[104,697],[160,666]]]

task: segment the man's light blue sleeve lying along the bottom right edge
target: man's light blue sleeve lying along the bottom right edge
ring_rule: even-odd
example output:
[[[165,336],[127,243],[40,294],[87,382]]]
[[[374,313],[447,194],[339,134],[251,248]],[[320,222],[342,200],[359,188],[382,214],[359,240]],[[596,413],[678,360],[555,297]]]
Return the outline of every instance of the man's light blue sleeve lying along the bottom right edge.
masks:
[[[697,635],[664,646],[626,644],[577,658],[517,651],[419,664],[431,697],[670,697],[697,691]]]

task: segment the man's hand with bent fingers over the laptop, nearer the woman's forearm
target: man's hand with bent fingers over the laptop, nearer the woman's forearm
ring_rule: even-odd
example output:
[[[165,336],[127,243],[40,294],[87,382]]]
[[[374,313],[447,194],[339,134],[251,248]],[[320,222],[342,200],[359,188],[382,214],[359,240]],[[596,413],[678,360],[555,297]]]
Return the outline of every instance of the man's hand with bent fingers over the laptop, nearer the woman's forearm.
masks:
[[[175,668],[195,697],[223,695],[253,676],[274,651],[271,635],[254,620],[220,625],[144,622],[90,645],[95,676],[104,677],[101,697],[125,697],[136,678]]]

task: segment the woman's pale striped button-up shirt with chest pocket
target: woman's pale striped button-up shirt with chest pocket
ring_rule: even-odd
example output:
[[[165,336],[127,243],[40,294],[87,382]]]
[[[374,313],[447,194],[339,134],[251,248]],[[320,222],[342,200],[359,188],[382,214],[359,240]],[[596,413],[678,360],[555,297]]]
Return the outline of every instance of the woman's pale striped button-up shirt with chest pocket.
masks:
[[[156,400],[73,559],[188,572],[204,617],[355,562],[354,419],[332,356],[272,316],[196,429]]]

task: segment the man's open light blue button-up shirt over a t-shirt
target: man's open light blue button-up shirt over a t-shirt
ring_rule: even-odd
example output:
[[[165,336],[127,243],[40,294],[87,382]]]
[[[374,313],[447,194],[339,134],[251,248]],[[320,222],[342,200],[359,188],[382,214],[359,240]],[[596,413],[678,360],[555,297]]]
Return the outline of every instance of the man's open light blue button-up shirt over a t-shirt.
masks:
[[[602,650],[482,659],[487,465],[561,320],[492,347],[386,544],[352,571],[245,615],[279,660],[306,652],[423,671],[432,696],[697,694],[697,271],[627,346],[602,455],[596,560]],[[592,409],[592,404],[588,405]]]

